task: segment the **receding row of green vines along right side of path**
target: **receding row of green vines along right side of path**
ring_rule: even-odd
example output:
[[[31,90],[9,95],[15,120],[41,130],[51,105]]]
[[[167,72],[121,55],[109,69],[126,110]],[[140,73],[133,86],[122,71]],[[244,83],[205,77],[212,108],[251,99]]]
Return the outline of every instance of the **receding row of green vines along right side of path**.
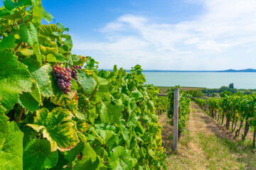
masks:
[[[256,135],[256,97],[255,95],[233,95],[224,96],[223,98],[195,99],[198,106],[207,111],[215,120],[221,121],[225,127],[235,132],[235,137],[240,135],[240,131],[244,126],[242,140],[251,129],[253,131],[252,145],[255,147]],[[230,122],[231,125],[230,125]],[[237,128],[238,127],[238,128]]]

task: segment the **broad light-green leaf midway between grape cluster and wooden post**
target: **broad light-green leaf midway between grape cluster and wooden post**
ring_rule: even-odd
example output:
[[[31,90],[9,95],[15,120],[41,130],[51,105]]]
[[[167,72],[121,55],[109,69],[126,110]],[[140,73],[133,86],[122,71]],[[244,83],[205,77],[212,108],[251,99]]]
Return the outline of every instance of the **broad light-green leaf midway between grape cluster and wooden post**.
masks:
[[[102,123],[118,123],[122,116],[122,110],[120,106],[114,106],[110,103],[102,103],[102,108],[100,109],[100,120]]]

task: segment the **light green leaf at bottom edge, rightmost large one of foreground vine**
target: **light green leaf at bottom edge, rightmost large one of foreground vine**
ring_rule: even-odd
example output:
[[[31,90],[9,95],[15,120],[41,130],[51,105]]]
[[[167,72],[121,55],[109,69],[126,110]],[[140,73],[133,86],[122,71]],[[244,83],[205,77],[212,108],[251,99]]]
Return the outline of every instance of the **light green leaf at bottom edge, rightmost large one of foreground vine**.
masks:
[[[112,149],[112,154],[108,162],[114,170],[132,169],[132,159],[129,151],[122,146],[117,146]]]

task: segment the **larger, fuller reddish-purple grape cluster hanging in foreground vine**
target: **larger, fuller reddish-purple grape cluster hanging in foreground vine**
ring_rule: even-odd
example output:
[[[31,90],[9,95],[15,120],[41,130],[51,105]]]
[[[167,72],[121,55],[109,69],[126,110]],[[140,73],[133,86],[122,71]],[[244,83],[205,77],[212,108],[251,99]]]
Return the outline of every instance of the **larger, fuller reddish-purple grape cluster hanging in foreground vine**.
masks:
[[[55,78],[55,81],[58,84],[60,90],[63,91],[64,94],[68,94],[70,88],[72,87],[71,72],[72,69],[68,67],[60,67],[58,65],[53,67],[53,77]]]

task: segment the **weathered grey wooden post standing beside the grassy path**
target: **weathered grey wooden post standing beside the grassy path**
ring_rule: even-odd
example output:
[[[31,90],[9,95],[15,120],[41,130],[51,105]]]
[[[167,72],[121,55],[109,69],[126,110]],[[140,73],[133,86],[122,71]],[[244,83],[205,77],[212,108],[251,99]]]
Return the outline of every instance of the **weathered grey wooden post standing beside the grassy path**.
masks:
[[[174,138],[173,138],[173,150],[178,149],[178,98],[179,91],[174,89]]]

